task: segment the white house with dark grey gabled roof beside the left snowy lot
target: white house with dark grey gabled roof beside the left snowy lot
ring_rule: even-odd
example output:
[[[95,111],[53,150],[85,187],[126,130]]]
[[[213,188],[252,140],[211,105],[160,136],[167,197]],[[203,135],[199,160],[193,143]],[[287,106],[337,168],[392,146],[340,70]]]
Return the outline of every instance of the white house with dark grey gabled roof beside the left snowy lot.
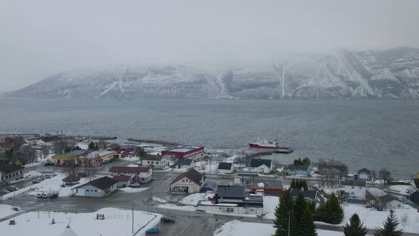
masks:
[[[116,191],[117,181],[104,176],[102,178],[94,179],[88,183],[85,183],[81,186],[72,188],[73,195],[82,196],[82,197],[94,197],[94,198],[103,198],[111,194],[113,191]]]

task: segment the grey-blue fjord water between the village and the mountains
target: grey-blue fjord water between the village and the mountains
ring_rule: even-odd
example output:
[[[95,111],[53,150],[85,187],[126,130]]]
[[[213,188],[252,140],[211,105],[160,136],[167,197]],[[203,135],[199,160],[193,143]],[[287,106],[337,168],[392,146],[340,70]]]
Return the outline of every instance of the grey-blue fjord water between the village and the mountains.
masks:
[[[388,168],[410,178],[419,171],[419,101],[0,99],[0,132],[57,130],[216,149],[260,136],[352,172]]]

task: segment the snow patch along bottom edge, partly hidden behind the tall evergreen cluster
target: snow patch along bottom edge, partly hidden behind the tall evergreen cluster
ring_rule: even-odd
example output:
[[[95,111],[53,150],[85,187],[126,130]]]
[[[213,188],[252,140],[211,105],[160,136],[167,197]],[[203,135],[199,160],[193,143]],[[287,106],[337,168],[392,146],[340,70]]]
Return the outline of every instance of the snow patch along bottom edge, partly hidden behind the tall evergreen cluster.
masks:
[[[273,225],[262,223],[241,222],[239,220],[232,220],[222,227],[219,227],[214,232],[214,236],[271,236],[275,234],[276,228]],[[342,232],[317,230],[319,236],[342,236]]]

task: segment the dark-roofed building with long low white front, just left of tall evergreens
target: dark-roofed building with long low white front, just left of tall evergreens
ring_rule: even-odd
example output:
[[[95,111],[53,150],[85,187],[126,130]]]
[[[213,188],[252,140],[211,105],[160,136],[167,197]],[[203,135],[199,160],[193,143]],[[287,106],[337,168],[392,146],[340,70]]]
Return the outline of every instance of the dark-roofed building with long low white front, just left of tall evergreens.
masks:
[[[244,186],[218,186],[214,200],[200,200],[197,210],[232,215],[261,215],[263,196],[246,192]]]

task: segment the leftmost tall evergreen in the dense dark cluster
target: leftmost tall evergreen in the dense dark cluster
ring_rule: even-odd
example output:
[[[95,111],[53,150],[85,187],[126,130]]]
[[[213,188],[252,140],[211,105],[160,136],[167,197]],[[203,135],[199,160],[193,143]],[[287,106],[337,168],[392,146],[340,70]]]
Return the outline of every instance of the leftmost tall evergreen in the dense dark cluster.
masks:
[[[295,235],[295,215],[294,215],[293,195],[290,191],[284,191],[279,200],[279,205],[275,209],[275,219],[273,227],[276,227],[276,236],[288,235],[288,223],[290,225],[290,235]],[[289,222],[288,222],[288,219]]]

